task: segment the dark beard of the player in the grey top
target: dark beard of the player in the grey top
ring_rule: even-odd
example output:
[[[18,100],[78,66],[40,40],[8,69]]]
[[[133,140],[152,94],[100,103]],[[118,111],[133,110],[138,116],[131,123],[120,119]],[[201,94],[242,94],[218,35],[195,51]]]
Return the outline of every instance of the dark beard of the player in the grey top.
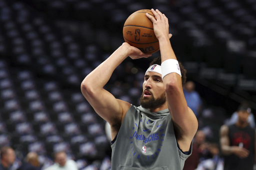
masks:
[[[140,105],[146,109],[155,109],[166,102],[166,95],[163,92],[159,98],[155,99],[151,93],[150,97],[144,97],[144,92],[140,96]]]

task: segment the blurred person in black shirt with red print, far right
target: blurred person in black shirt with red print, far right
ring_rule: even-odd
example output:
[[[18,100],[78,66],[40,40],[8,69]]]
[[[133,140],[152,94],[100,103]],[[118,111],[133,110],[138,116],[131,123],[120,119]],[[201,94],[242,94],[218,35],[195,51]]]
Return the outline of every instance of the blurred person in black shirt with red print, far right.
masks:
[[[224,170],[253,170],[255,163],[255,130],[247,121],[250,108],[240,105],[235,124],[220,128],[220,150],[224,156]]]

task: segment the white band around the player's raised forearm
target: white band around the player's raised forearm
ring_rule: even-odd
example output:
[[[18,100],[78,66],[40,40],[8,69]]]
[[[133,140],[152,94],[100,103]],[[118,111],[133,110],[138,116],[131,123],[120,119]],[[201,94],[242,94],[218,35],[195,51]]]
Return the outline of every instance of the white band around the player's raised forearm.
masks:
[[[164,76],[166,76],[169,73],[177,73],[181,77],[180,68],[178,65],[178,61],[175,59],[168,59],[161,63],[161,69],[162,69],[162,79]]]

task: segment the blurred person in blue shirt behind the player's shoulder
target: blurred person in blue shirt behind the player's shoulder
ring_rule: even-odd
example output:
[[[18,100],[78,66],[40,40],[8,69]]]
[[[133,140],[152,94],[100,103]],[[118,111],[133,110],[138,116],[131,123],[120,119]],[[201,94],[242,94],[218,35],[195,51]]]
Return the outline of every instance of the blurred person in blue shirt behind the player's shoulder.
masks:
[[[195,116],[198,118],[201,112],[202,101],[200,95],[194,89],[194,82],[187,81],[183,87],[183,92],[187,106],[194,112]]]

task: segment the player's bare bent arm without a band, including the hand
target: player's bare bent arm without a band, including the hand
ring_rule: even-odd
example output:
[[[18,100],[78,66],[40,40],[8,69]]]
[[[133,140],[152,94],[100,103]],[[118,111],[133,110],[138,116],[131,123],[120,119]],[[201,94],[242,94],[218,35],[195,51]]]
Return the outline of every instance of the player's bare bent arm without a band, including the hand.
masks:
[[[149,57],[151,54],[144,54],[139,49],[123,43],[104,62],[89,73],[81,83],[81,92],[95,112],[106,120],[111,127],[115,128],[112,137],[118,132],[123,114],[126,113],[130,104],[115,97],[103,89],[112,75],[114,69],[127,57],[132,59]]]

